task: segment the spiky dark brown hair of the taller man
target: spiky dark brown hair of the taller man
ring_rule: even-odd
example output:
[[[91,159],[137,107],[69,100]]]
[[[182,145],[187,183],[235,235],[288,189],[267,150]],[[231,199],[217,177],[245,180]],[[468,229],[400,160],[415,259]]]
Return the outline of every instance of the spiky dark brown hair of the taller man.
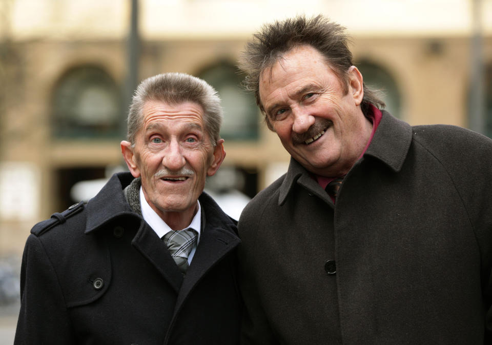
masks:
[[[334,73],[338,76],[344,91],[348,92],[348,69],[353,65],[352,52],[348,49],[348,36],[345,28],[330,22],[323,15],[310,19],[304,16],[286,19],[283,22],[266,24],[253,35],[242,52],[239,67],[247,73],[244,79],[245,89],[252,91],[256,97],[256,104],[265,116],[270,129],[271,124],[264,112],[259,94],[259,80],[261,73],[271,68],[278,60],[293,48],[309,45],[318,50],[325,58]],[[371,104],[381,109],[385,107],[376,90],[363,86],[361,110],[367,116]]]

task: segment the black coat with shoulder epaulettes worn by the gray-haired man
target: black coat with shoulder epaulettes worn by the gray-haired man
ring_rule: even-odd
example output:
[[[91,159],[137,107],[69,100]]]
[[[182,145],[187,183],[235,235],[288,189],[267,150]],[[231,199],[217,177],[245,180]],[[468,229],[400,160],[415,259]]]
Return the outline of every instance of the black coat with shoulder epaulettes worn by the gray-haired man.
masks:
[[[132,178],[114,175],[86,205],[32,229],[15,345],[238,342],[235,221],[200,196],[206,225],[183,277],[125,200],[122,189]]]

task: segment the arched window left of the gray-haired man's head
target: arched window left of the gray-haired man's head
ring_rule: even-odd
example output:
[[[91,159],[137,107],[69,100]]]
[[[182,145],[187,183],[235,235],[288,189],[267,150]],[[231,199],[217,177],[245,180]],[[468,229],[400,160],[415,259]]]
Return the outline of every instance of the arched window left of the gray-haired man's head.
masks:
[[[120,91],[114,80],[95,66],[73,68],[53,93],[55,137],[113,137],[120,131]]]

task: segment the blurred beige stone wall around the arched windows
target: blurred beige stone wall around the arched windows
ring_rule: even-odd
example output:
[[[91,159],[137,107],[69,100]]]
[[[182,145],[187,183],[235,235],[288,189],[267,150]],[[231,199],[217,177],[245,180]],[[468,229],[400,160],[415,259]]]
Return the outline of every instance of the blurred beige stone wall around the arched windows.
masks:
[[[235,63],[244,45],[238,39],[168,39],[142,43],[140,79],[161,72],[200,73],[217,60]],[[435,44],[439,49],[433,49]],[[411,124],[445,123],[466,127],[467,37],[354,38],[356,60],[371,60],[390,72],[401,91],[402,117]],[[492,37],[486,37],[485,60],[492,62]],[[20,252],[29,228],[54,211],[54,171],[61,167],[117,165],[118,140],[54,140],[50,135],[51,95],[57,80],[71,67],[96,64],[123,85],[126,44],[121,40],[32,40],[12,43],[15,73],[7,73],[7,94],[0,133],[0,161],[29,162],[39,172],[39,210],[33,219],[0,222],[0,251]],[[261,123],[261,115],[258,114]],[[259,140],[226,142],[224,164],[259,170],[258,189],[266,187],[267,168],[288,162],[276,135],[260,126]]]

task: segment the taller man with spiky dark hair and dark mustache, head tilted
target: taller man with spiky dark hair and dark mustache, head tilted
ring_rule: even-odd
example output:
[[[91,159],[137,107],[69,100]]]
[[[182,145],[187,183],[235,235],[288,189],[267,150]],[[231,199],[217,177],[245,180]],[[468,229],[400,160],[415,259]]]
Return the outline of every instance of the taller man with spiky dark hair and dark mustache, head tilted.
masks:
[[[241,59],[288,172],[239,219],[242,344],[485,344],[492,140],[384,110],[323,16]]]

